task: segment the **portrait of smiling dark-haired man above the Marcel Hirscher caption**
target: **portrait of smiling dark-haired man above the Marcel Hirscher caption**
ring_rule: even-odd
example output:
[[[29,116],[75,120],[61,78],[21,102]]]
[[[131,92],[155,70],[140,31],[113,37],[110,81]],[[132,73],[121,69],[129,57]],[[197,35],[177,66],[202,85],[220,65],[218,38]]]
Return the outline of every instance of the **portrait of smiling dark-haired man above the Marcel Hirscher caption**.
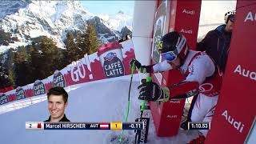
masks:
[[[50,88],[47,93],[48,110],[50,117],[45,122],[70,122],[64,114],[68,104],[68,94],[62,87]]]

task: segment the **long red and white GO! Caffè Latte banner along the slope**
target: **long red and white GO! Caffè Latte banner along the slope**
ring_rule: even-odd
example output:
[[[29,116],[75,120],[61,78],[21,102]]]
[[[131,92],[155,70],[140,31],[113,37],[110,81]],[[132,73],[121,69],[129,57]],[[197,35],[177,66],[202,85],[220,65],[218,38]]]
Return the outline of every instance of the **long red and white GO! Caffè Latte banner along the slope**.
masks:
[[[70,63],[62,70],[55,70],[48,78],[2,93],[0,105],[41,96],[54,86],[66,87],[129,75],[131,73],[129,62],[132,58],[135,58],[135,54],[131,39],[121,43],[107,43],[99,47],[96,53],[85,54],[84,58]]]

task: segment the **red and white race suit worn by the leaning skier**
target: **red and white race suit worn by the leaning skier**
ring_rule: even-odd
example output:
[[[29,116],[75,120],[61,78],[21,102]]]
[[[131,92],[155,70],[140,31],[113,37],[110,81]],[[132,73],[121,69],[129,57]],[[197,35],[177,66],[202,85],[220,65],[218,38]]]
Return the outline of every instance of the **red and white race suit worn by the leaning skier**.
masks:
[[[153,66],[154,73],[171,70],[172,66],[165,60]],[[214,65],[204,52],[190,50],[185,62],[180,67],[186,75],[186,82],[198,82],[198,98],[192,110],[192,122],[210,122],[218,102],[222,85],[222,72]],[[171,94],[170,94],[171,95]],[[208,130],[201,130],[206,136]]]

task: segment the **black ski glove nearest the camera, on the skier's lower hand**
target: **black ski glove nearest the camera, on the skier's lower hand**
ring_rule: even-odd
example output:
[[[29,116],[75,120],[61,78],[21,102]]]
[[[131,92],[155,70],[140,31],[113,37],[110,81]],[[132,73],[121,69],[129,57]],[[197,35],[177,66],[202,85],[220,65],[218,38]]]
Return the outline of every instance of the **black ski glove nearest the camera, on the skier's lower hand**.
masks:
[[[138,99],[153,101],[153,102],[167,102],[170,98],[169,89],[167,87],[161,88],[155,82],[144,82],[138,86]]]

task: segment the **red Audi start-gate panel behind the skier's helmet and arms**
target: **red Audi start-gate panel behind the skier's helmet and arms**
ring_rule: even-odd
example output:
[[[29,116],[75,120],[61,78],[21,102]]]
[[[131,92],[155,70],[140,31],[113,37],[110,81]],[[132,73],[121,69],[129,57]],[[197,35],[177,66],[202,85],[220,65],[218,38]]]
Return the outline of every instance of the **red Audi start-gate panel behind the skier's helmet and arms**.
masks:
[[[186,36],[188,46],[195,49],[200,10],[201,0],[194,0],[193,2],[165,1],[158,6],[154,23],[153,63],[159,62],[160,59],[160,54],[155,48],[155,43],[168,31],[176,30],[181,32]],[[152,74],[151,76],[154,78],[154,82],[158,82],[161,86],[170,86],[184,80],[184,76],[180,70],[169,70],[163,73]],[[150,109],[158,136],[167,137],[178,134],[184,104],[185,100],[170,101],[161,103],[160,105],[150,102]]]

